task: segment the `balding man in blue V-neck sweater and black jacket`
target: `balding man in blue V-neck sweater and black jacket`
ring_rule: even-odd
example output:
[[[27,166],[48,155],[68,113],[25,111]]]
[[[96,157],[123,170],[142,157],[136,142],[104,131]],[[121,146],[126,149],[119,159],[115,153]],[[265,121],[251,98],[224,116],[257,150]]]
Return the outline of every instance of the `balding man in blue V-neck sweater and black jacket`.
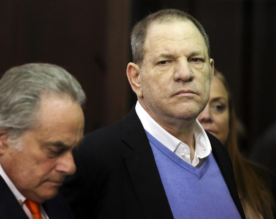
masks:
[[[196,120],[214,71],[203,27],[162,10],[135,25],[131,46],[138,101],[121,122],[85,136],[63,190],[75,216],[245,218],[231,160]]]

